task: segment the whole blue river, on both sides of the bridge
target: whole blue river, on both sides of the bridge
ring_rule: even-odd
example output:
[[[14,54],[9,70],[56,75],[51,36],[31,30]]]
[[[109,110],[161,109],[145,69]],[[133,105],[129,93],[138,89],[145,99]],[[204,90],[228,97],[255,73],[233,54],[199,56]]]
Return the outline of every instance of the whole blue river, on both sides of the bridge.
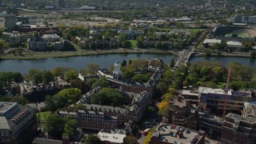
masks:
[[[101,68],[109,68],[114,65],[114,62],[122,62],[130,59],[153,59],[160,58],[163,62],[169,64],[172,58],[177,58],[176,55],[167,54],[102,54],[102,55],[90,55],[82,57],[70,57],[70,58],[45,58],[39,60],[2,60],[0,61],[0,71],[15,71],[22,74],[26,74],[30,69],[38,70],[52,70],[55,67],[63,66],[70,67],[77,70],[86,69],[89,63],[97,63]],[[230,62],[239,62],[242,65],[251,66],[256,68],[256,60],[250,58],[233,58],[233,57],[199,57],[192,58],[191,63],[198,61],[210,61],[210,62],[222,62],[223,66],[227,66]]]

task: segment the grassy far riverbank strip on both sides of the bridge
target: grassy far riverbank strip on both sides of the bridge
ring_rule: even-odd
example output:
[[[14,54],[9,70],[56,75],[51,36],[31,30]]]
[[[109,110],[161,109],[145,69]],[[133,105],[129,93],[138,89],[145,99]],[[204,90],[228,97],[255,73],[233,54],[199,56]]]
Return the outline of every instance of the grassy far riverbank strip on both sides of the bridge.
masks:
[[[0,60],[10,60],[10,59],[19,59],[19,60],[37,60],[45,58],[70,58],[70,57],[83,57],[90,55],[102,55],[102,54],[170,54],[178,55],[181,51],[172,50],[172,51],[163,51],[158,49],[113,49],[113,50],[79,50],[79,51],[47,51],[47,52],[38,52],[38,51],[23,51],[22,54],[5,54],[0,56]],[[195,57],[206,57],[205,53],[194,54],[190,56],[191,58]],[[238,58],[250,58],[250,53],[211,53],[210,57],[238,57]]]

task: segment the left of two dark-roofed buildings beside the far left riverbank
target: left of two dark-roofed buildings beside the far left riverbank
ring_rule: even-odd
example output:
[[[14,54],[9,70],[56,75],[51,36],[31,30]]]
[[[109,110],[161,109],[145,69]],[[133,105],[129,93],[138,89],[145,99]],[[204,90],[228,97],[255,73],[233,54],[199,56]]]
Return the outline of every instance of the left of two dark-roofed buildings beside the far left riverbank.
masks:
[[[30,50],[46,50],[46,42],[40,37],[27,39],[27,44]]]

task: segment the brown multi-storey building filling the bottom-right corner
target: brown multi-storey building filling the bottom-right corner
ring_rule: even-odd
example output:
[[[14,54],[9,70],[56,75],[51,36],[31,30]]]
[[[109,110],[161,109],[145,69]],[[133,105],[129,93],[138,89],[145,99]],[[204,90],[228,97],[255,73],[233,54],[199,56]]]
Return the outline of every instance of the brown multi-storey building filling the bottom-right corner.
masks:
[[[222,126],[222,143],[254,144],[256,139],[256,117],[227,114]]]

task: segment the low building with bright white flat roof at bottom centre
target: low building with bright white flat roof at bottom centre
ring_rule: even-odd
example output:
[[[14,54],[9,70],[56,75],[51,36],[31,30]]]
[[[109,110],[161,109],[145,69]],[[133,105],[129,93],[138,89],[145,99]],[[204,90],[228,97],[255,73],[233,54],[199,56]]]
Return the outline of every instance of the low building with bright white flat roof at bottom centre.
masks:
[[[123,138],[126,137],[126,130],[120,129],[102,129],[98,132],[98,138],[101,139],[103,144],[118,144],[123,143]]]

